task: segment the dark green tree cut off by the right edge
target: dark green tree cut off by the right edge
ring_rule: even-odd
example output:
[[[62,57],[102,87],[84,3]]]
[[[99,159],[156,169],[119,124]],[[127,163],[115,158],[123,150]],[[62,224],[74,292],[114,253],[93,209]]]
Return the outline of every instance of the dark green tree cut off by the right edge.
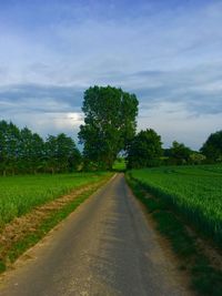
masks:
[[[222,131],[210,134],[201,153],[206,156],[208,162],[222,161]]]

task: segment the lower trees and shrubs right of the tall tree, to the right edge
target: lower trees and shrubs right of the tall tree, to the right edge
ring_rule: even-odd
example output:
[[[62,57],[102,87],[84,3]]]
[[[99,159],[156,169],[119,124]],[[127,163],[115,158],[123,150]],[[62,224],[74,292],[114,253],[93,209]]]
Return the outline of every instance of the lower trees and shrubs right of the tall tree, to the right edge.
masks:
[[[222,131],[212,133],[200,151],[176,141],[162,149],[161,136],[154,130],[140,131],[129,144],[127,155],[128,169],[213,163],[222,163]]]

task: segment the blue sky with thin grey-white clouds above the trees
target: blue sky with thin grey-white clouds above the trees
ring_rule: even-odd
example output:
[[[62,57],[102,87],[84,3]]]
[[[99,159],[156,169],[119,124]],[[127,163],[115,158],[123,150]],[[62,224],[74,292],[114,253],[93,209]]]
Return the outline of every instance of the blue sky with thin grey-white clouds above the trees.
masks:
[[[199,150],[222,130],[222,1],[0,0],[0,120],[78,141],[83,92],[140,102],[138,131]]]

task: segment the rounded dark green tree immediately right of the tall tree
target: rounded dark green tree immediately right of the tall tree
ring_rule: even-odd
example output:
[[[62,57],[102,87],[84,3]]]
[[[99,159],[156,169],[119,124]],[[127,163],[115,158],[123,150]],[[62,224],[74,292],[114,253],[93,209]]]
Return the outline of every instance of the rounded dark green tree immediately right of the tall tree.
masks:
[[[152,129],[139,132],[128,146],[128,169],[159,165],[161,146],[161,136]]]

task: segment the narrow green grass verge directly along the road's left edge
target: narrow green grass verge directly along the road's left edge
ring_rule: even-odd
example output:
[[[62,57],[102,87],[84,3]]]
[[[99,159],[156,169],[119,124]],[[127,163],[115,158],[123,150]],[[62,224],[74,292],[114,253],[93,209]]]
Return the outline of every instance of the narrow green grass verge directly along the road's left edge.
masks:
[[[71,214],[81,203],[90,197],[98,188],[100,188],[111,175],[104,177],[102,181],[93,184],[90,188],[87,188],[73,200],[69,201],[61,208],[54,208],[50,215],[41,221],[39,226],[32,232],[28,232],[24,236],[18,239],[8,252],[4,257],[0,259],[0,273],[4,272],[19,256],[21,256],[27,249],[36,245],[41,238],[46,236],[56,225]]]

